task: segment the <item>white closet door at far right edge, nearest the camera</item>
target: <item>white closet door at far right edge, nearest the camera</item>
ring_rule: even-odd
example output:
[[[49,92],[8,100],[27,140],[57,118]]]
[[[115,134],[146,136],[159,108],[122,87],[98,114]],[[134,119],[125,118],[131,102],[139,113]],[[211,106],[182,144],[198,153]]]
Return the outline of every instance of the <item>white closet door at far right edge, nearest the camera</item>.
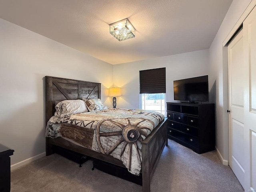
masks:
[[[256,8],[243,22],[245,191],[256,189]],[[251,188],[252,187],[252,188]]]

